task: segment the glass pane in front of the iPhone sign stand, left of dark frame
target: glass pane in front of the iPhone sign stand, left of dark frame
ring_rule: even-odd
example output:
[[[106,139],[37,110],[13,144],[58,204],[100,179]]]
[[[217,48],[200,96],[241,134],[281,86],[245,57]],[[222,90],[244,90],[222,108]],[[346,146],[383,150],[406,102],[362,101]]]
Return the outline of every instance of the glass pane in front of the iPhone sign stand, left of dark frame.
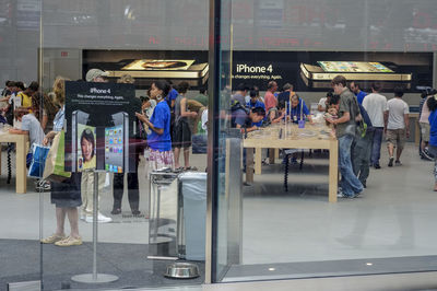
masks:
[[[191,102],[208,81],[206,12],[189,0],[43,1],[39,77],[63,108],[49,135],[62,130],[71,172],[42,194],[45,290],[203,282],[206,154],[185,135],[208,103]],[[187,30],[202,36],[196,51]]]

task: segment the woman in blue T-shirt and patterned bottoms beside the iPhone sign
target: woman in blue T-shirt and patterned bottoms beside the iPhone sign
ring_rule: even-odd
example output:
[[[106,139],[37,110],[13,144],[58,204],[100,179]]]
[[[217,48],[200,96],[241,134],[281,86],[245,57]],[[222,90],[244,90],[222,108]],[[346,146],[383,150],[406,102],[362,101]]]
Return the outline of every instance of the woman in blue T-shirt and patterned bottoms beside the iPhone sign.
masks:
[[[151,171],[174,170],[175,159],[172,151],[170,108],[166,96],[170,90],[166,81],[156,81],[151,86],[151,98],[156,100],[152,117],[135,113],[137,117],[149,127],[147,143],[150,148],[149,167]]]

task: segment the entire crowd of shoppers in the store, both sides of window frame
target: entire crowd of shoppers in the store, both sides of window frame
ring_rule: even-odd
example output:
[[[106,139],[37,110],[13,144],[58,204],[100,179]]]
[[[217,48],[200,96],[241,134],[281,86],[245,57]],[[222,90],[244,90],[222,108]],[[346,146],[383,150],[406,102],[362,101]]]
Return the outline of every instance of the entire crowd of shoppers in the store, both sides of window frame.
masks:
[[[52,90],[42,94],[37,82],[25,86],[22,82],[8,81],[0,98],[0,121],[13,128],[11,133],[28,135],[31,144],[47,144],[62,130],[64,125],[66,78],[57,78]],[[107,73],[92,69],[86,73],[86,82],[108,82]],[[121,77],[119,83],[134,83],[130,75]],[[388,166],[400,166],[401,154],[409,131],[409,106],[402,100],[403,90],[394,90],[394,98],[387,101],[381,84],[371,84],[371,93],[362,91],[359,83],[350,82],[338,75],[332,80],[332,92],[318,103],[317,109],[324,115],[327,125],[339,141],[339,168],[341,182],[339,197],[354,198],[367,187],[369,168],[381,168],[380,151],[386,135],[389,153]],[[277,92],[277,83],[270,81],[264,96],[258,88],[239,84],[232,95],[229,113],[231,126],[241,132],[257,130],[259,127],[283,123],[298,123],[307,119],[312,123],[305,101],[286,83]],[[198,128],[205,129],[208,123],[208,96],[201,90],[196,97],[188,97],[189,84],[181,82],[173,86],[170,82],[158,80],[151,84],[146,96],[138,100],[135,113],[139,133],[135,139],[144,141],[144,147],[135,143],[135,172],[128,173],[128,198],[133,216],[139,216],[140,195],[138,167],[140,155],[147,148],[146,167],[151,171],[196,170],[190,165],[191,136]],[[423,96],[421,107],[422,143],[421,155],[427,159],[437,156],[437,92]],[[198,127],[198,125],[200,125]],[[93,140],[93,139],[90,139]],[[146,143],[145,143],[146,141]],[[85,144],[85,146],[83,146]],[[146,146],[145,146],[146,144]],[[81,141],[86,148],[86,142]],[[395,151],[394,151],[395,150]],[[82,149],[86,152],[86,149]],[[184,164],[179,162],[182,152]],[[424,158],[424,159],[425,159]],[[98,188],[105,184],[105,175],[99,174]],[[435,165],[435,190],[437,190],[437,162]],[[114,206],[111,214],[121,213],[123,196],[123,174],[114,174]],[[82,244],[78,221],[93,222],[93,184],[91,172],[72,173],[62,183],[38,182],[40,189],[50,189],[51,202],[56,206],[57,228],[52,235],[42,242],[59,246]],[[102,193],[102,191],[99,191]],[[80,209],[80,211],[79,211]],[[66,217],[70,222],[70,235],[64,233]],[[101,212],[98,222],[109,222],[110,218]]]

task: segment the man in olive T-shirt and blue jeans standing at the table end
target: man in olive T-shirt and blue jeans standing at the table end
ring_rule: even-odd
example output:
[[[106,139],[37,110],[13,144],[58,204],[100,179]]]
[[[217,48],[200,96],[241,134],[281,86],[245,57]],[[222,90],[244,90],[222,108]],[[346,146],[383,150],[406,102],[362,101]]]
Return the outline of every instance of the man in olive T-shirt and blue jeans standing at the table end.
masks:
[[[336,75],[332,79],[334,93],[340,95],[339,114],[336,119],[327,118],[335,126],[335,136],[339,140],[339,168],[342,176],[341,190],[338,197],[355,198],[363,191],[363,184],[354,174],[351,161],[351,148],[355,138],[356,119],[361,116],[356,106],[356,97],[346,86],[346,78]]]

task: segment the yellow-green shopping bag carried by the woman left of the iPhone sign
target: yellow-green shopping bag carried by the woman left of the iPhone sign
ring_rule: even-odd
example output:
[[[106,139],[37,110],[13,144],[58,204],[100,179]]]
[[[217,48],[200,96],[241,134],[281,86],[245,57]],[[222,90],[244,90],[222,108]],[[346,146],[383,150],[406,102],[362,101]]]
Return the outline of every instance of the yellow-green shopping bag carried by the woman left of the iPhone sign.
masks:
[[[63,182],[71,177],[70,172],[64,171],[66,161],[66,132],[62,130],[57,133],[51,143],[50,151],[47,154],[46,166],[44,168],[43,178],[51,182]]]

